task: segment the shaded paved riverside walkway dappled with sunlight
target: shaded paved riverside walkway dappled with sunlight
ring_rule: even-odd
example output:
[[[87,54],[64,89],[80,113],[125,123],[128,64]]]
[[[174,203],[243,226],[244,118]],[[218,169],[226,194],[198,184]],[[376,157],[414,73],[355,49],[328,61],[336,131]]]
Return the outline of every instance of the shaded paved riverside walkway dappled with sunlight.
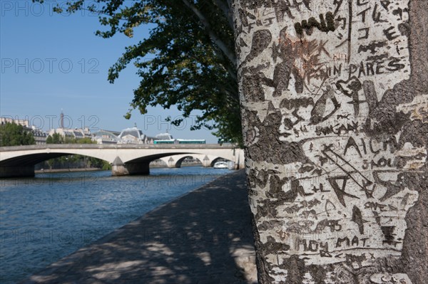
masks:
[[[256,283],[245,172],[216,179],[23,283]]]

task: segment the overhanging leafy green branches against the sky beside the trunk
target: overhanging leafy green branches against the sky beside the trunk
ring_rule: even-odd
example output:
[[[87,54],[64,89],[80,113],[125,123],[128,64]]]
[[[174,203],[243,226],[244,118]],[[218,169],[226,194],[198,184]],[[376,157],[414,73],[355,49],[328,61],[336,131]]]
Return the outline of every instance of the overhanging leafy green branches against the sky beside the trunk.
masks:
[[[85,6],[88,2],[83,0],[68,1],[55,11],[88,9],[98,13],[101,25],[108,26],[106,31],[96,31],[103,38],[116,33],[132,38],[136,28],[152,27],[150,36],[126,47],[108,71],[108,80],[113,83],[128,64],[138,68],[141,82],[134,90],[131,110],[145,114],[148,106],[175,105],[183,117],[200,110],[193,130],[217,129],[214,134],[219,138],[242,144],[229,0],[96,2]],[[179,125],[181,121],[171,122]]]

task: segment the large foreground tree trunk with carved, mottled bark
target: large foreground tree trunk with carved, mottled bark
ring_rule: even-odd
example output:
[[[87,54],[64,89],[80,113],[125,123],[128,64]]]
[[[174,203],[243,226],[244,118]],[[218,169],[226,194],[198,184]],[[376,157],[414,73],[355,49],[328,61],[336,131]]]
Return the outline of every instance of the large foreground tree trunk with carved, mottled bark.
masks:
[[[233,14],[260,283],[426,283],[428,1]]]

